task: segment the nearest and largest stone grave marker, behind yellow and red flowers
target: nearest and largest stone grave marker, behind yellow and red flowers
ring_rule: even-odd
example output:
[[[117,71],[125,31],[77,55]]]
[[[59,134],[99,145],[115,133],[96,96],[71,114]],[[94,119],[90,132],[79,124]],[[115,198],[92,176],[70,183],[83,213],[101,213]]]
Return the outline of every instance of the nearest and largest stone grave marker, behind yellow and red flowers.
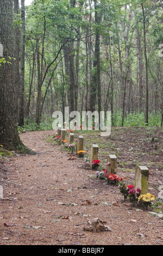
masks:
[[[137,166],[135,169],[135,188],[140,188],[141,194],[148,193],[149,169],[146,166]]]

